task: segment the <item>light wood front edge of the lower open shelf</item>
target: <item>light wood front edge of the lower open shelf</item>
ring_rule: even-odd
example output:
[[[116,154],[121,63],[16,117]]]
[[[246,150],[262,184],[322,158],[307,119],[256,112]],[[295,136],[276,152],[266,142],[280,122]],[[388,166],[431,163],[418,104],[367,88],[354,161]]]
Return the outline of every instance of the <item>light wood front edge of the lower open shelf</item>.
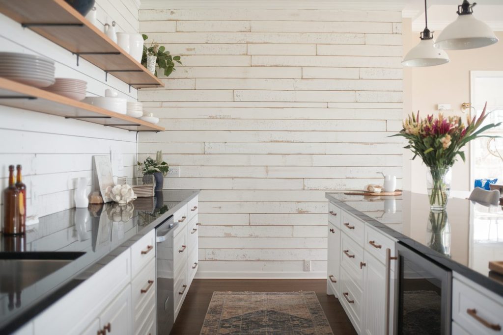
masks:
[[[101,107],[93,106],[89,103],[77,101],[77,100],[74,100],[74,99],[59,95],[59,94],[48,92],[43,89],[29,86],[29,85],[25,85],[25,84],[22,84],[22,83],[19,83],[16,81],[12,81],[12,80],[9,80],[6,78],[0,77],[0,89],[14,92],[19,96],[36,97],[38,99],[48,100],[48,101],[55,102],[55,103],[58,103],[61,105],[66,105],[68,107],[73,107],[73,108],[78,108],[81,110],[90,111],[92,113],[96,113],[101,116],[111,117],[114,119],[123,120],[123,121],[130,122],[133,124],[138,124],[140,126],[147,127],[148,131],[150,131],[150,130],[151,131],[159,131],[159,132],[164,131],[163,127],[145,122],[143,120],[136,119],[136,118],[124,115],[124,114],[116,113],[114,111],[104,109]],[[1,96],[0,96],[0,104],[3,104]],[[38,111],[39,113],[51,114],[51,113],[47,113],[45,111],[36,110],[36,109],[30,109],[30,110]],[[60,116],[59,114],[52,114],[52,115]],[[79,118],[77,117],[75,119],[78,120]],[[127,126],[127,125],[124,125],[124,126],[125,127],[134,127],[134,126]],[[120,128],[120,127],[118,127],[118,128]],[[143,131],[143,130],[140,130],[140,131]]]

